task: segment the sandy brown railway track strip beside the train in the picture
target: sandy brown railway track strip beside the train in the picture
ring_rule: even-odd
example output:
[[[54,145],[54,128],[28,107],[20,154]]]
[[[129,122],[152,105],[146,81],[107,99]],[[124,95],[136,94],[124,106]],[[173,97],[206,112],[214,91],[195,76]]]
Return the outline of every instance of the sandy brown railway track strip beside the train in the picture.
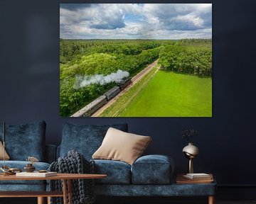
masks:
[[[139,72],[137,75],[135,75],[134,77],[132,77],[132,83],[129,84],[127,87],[125,87],[125,89],[123,89],[119,94],[117,94],[117,96],[115,96],[114,98],[112,98],[110,101],[108,101],[105,106],[102,106],[100,109],[98,109],[95,113],[93,113],[91,115],[91,117],[99,117],[99,115],[101,113],[103,113],[103,111],[105,111],[106,108],[110,107],[115,101],[117,101],[117,99],[122,96],[122,94],[124,94],[126,91],[128,91],[130,88],[132,88],[132,86],[134,86],[134,84],[136,84],[140,79],[142,79],[147,73],[149,73],[151,71],[151,69],[153,67],[156,66],[158,60],[154,61],[152,64],[149,64],[149,66],[147,66],[145,69],[143,69],[141,72]]]

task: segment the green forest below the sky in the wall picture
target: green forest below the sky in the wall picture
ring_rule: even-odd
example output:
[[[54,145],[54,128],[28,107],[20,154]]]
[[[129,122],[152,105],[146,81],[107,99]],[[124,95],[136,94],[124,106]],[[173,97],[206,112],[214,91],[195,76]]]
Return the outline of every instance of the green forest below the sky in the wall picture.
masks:
[[[132,77],[157,59],[163,69],[211,77],[211,55],[211,40],[205,39],[60,39],[60,116],[72,115],[117,84],[92,79],[120,70]]]

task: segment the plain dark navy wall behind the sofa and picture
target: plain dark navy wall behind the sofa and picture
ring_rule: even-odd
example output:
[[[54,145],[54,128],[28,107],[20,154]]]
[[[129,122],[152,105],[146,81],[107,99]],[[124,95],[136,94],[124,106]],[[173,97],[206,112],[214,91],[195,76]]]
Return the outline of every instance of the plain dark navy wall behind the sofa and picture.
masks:
[[[256,185],[253,0],[213,2],[213,118],[59,118],[59,3],[0,1],[0,121],[46,120],[55,145],[65,122],[126,122],[129,132],[153,137],[147,153],[174,157],[178,172],[187,164],[179,131],[191,127],[199,131],[196,171],[213,172],[220,184]]]

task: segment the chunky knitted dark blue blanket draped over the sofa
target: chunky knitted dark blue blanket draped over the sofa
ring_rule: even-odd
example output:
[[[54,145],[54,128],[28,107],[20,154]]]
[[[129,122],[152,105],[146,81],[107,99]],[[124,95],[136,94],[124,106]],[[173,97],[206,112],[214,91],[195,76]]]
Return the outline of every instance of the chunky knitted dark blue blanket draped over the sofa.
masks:
[[[68,152],[68,157],[60,157],[58,162],[50,164],[49,170],[69,174],[95,174],[95,162],[88,162],[82,154],[72,150]],[[48,183],[50,184],[50,191],[62,191],[62,181],[50,180]],[[73,204],[95,203],[94,179],[72,180],[72,198]],[[63,198],[51,198],[50,203],[62,204]]]

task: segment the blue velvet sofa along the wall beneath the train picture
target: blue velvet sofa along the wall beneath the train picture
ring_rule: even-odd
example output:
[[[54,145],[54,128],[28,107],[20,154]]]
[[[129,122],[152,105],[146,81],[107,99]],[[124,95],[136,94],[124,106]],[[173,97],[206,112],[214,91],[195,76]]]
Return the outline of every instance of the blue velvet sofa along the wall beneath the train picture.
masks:
[[[75,149],[85,159],[100,147],[107,130],[112,127],[128,132],[127,124],[76,125],[63,124],[60,145],[45,145],[46,123],[43,121],[25,125],[6,126],[6,152],[10,167],[26,166],[26,157],[37,157],[36,169],[48,169],[58,157],[66,157]],[[1,126],[0,126],[1,128]],[[1,135],[1,134],[0,134]],[[1,137],[0,137],[1,138]],[[154,141],[153,141],[154,142]],[[124,144],[125,145],[125,144]],[[180,154],[180,152],[178,152]],[[94,159],[97,174],[107,174],[105,179],[96,179],[97,196],[214,196],[215,183],[176,184],[174,160],[167,155],[144,155],[133,164],[114,160]],[[2,161],[0,165],[2,165]],[[1,181],[0,191],[43,191],[43,181]],[[212,202],[212,201],[211,201]]]

